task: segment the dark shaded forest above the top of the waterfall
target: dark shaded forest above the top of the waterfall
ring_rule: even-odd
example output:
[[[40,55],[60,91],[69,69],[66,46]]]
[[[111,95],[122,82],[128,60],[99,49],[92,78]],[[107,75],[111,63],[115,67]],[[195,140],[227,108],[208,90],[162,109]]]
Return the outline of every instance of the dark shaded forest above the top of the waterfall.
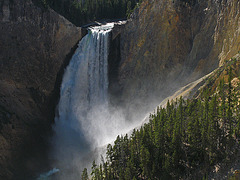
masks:
[[[34,0],[51,7],[77,26],[102,19],[125,19],[141,0]]]

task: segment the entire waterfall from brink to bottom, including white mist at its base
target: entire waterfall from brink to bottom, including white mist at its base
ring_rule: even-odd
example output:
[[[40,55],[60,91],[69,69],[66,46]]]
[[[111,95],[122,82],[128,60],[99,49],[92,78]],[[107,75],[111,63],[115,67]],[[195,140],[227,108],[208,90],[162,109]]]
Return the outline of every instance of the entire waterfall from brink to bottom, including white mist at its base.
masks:
[[[89,168],[97,158],[94,152],[112,142],[125,127],[130,129],[119,111],[110,113],[108,104],[109,35],[113,26],[108,23],[90,28],[65,70],[50,155],[52,167],[59,170],[52,175],[54,179],[80,179],[83,168]]]

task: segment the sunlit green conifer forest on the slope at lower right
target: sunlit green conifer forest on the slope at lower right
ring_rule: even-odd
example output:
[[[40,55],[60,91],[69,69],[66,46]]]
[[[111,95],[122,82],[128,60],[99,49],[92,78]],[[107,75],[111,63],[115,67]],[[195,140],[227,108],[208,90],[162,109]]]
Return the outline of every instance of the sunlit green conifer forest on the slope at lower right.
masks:
[[[240,138],[239,62],[230,64],[197,97],[168,101],[130,137],[118,136],[82,179],[208,179],[214,165],[230,162]]]

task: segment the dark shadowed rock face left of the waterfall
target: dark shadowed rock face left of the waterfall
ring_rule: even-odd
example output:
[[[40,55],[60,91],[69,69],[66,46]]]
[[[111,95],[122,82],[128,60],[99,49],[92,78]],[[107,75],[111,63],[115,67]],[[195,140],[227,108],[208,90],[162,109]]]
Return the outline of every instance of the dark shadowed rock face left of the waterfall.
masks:
[[[51,9],[0,1],[0,179],[33,179],[44,163],[61,75],[80,38]]]

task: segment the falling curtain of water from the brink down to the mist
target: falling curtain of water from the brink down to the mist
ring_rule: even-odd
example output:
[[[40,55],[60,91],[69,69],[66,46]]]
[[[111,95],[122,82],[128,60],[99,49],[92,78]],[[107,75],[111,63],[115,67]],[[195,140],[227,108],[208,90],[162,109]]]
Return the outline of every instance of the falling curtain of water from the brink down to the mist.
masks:
[[[90,28],[79,42],[63,77],[57,125],[75,132],[81,129],[81,133],[90,128],[99,131],[96,121],[92,121],[94,115],[99,115],[99,108],[108,110],[108,41],[113,25]]]

